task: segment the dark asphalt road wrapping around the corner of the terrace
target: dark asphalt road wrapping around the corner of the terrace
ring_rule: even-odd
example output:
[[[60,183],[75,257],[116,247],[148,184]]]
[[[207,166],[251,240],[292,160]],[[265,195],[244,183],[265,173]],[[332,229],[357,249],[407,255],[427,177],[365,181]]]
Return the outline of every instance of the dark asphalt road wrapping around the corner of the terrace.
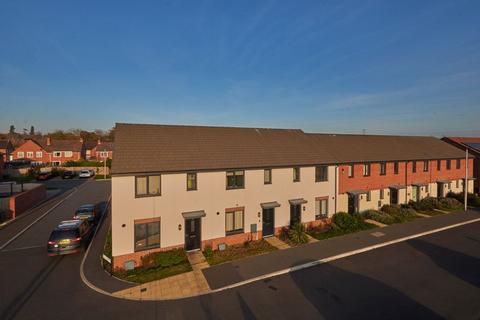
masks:
[[[178,301],[99,294],[80,279],[82,254],[49,258],[45,247],[26,247],[43,244],[72,208],[109,193],[108,183],[85,185],[0,252],[0,319],[480,318],[480,223]]]

